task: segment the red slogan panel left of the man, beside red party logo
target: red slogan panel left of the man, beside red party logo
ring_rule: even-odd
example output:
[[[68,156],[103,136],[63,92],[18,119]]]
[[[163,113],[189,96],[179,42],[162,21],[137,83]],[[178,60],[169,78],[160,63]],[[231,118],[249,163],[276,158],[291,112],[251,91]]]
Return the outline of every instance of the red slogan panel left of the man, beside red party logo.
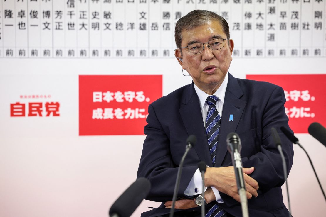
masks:
[[[80,75],[79,135],[143,135],[162,75]]]

